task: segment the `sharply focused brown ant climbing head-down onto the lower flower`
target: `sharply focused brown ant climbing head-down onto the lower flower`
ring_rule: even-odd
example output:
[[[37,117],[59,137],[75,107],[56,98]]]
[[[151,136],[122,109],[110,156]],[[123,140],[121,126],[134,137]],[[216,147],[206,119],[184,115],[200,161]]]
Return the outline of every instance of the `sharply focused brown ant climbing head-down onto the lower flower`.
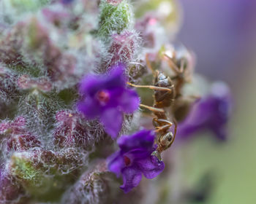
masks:
[[[127,84],[132,87],[146,87],[154,90],[154,106],[151,107],[143,104],[140,104],[140,106],[149,109],[155,115],[152,122],[157,132],[157,149],[152,154],[157,156],[159,160],[162,160],[161,153],[173,144],[176,137],[176,121],[174,121],[175,130],[173,135],[169,130],[173,126],[173,122],[167,119],[167,114],[164,110],[173,104],[176,98],[176,92],[169,76],[165,76],[165,74],[159,71],[154,71],[153,74],[154,85],[133,85],[129,82]]]

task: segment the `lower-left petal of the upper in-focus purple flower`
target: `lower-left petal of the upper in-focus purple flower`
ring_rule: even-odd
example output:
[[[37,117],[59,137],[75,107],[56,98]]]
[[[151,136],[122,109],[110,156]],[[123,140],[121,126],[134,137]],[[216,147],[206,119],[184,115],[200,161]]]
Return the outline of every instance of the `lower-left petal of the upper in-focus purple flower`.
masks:
[[[83,101],[79,101],[77,104],[77,108],[81,111],[88,119],[94,119],[101,112],[101,106],[99,103],[92,98],[85,98]]]

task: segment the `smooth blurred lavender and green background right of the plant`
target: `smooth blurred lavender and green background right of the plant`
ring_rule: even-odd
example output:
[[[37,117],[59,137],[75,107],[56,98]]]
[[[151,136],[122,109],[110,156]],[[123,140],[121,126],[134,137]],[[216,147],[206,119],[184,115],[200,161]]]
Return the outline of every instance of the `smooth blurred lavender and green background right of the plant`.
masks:
[[[177,149],[187,175],[181,179],[206,191],[194,203],[256,203],[256,1],[178,3],[183,11],[178,41],[195,52],[195,71],[227,82],[234,100],[227,141],[203,135]]]

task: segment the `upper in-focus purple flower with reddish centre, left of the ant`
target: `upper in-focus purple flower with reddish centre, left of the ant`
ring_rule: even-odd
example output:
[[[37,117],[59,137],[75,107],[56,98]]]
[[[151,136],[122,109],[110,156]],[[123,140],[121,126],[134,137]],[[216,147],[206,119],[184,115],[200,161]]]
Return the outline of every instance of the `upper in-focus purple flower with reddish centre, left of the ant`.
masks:
[[[89,75],[80,82],[83,98],[78,110],[88,119],[100,119],[112,138],[121,130],[123,113],[132,114],[140,104],[138,94],[127,89],[126,82],[122,64],[112,67],[108,74]]]

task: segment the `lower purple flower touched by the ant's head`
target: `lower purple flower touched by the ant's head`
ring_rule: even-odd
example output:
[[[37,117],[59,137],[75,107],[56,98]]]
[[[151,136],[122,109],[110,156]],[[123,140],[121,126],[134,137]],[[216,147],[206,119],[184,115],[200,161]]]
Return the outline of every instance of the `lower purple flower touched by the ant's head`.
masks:
[[[154,133],[140,130],[132,136],[122,136],[117,141],[120,150],[108,157],[108,169],[116,176],[122,174],[125,193],[137,187],[142,178],[154,178],[162,172],[165,164],[152,156],[154,151]]]

